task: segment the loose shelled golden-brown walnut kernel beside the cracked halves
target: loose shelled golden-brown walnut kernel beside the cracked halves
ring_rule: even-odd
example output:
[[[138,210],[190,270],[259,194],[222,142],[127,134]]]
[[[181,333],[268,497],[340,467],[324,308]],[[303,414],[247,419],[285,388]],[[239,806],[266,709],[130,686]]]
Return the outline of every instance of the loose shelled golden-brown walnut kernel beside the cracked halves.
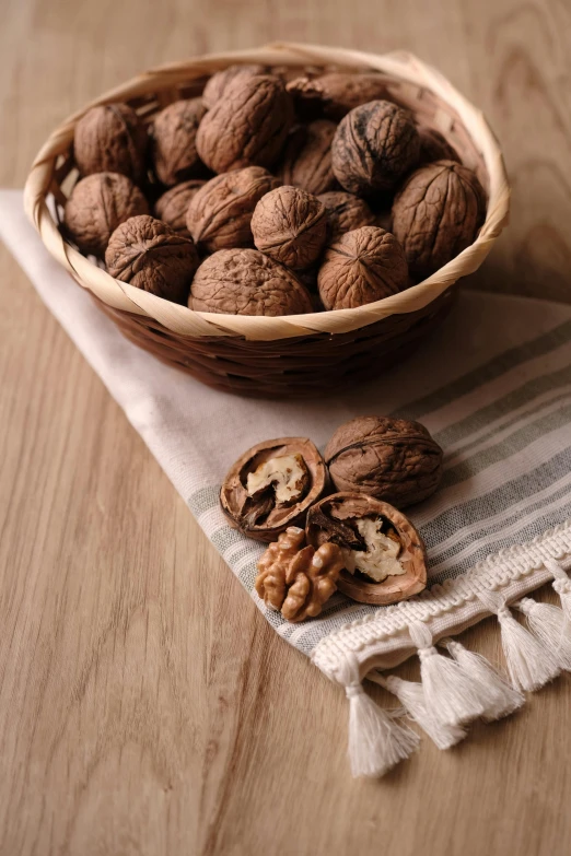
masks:
[[[268,547],[258,562],[256,591],[267,607],[280,610],[288,621],[315,618],[337,590],[343,567],[339,547],[325,543],[304,547],[304,531],[290,526]]]

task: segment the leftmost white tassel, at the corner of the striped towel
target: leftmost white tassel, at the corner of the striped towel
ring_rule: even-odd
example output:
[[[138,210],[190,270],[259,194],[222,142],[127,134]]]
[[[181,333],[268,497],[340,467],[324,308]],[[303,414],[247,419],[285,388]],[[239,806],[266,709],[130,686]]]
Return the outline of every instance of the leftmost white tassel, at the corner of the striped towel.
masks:
[[[349,699],[349,760],[353,776],[383,776],[418,749],[420,738],[396,723],[365,693],[359,680],[359,661],[346,653],[338,680]]]

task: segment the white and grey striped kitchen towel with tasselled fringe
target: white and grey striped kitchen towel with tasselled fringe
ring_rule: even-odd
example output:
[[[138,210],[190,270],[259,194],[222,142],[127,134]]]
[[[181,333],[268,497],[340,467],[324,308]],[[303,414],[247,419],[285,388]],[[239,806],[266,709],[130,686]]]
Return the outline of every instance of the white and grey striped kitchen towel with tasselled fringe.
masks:
[[[399,367],[380,361],[374,383],[313,402],[241,399],[125,340],[47,254],[16,191],[0,194],[0,235],[266,619],[346,689],[353,773],[380,775],[417,742],[363,692],[364,677],[445,748],[470,719],[515,710],[522,691],[571,668],[571,307],[463,292],[440,332]],[[308,436],[323,448],[340,423],[368,413],[419,420],[444,448],[439,491],[407,509],[427,544],[430,588],[384,609],[337,594],[317,619],[290,624],[255,593],[264,548],[229,527],[220,483],[255,443]],[[525,597],[548,581],[561,607]],[[434,647],[490,613],[509,680],[457,642],[452,656]],[[422,683],[383,675],[417,653]]]

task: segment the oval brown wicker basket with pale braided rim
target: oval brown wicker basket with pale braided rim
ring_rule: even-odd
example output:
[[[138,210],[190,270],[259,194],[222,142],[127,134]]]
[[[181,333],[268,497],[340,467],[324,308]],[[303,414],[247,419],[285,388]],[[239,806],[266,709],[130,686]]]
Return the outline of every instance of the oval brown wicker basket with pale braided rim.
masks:
[[[198,313],[114,280],[67,243],[47,204],[61,206],[77,175],[71,145],[77,120],[94,104],[125,101],[150,120],[166,104],[201,92],[209,74],[235,62],[287,73],[307,69],[376,70],[391,97],[439,129],[488,194],[486,222],[474,244],[418,285],[357,309],[280,318]],[[163,66],[129,81],[71,116],[37,155],[25,187],[26,212],[49,251],[88,289],[124,335],[160,360],[232,392],[314,396],[382,375],[435,328],[452,302],[451,286],[475,271],[500,234],[510,191],[488,124],[441,74],[410,55],[376,56],[310,45],[272,45]]]

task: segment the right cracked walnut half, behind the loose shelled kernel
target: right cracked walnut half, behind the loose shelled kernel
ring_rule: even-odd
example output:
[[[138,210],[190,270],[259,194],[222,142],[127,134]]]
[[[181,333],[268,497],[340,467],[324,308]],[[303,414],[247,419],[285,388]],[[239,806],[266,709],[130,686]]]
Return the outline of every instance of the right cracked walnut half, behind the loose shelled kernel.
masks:
[[[310,508],[305,531],[314,548],[333,542],[343,549],[346,566],[337,587],[360,603],[396,603],[427,585],[422,539],[388,503],[335,493]]]

